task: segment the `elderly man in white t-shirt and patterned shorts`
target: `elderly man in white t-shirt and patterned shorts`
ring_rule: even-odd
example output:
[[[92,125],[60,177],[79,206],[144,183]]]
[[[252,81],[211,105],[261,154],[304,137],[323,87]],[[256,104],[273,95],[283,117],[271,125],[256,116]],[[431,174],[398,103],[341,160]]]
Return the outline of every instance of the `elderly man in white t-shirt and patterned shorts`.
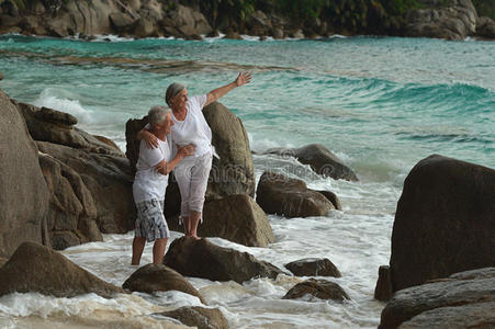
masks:
[[[155,241],[153,262],[161,263],[170,237],[164,216],[165,191],[168,173],[185,157],[194,154],[195,147],[187,145],[178,147],[173,157],[170,134],[173,121],[171,110],[165,106],[153,106],[148,112],[148,128],[158,143],[156,148],[147,148],[140,141],[139,159],[136,166],[136,178],[133,185],[134,202],[137,207],[135,237],[133,240],[133,265],[138,265],[146,241]],[[173,158],[172,158],[173,157]]]

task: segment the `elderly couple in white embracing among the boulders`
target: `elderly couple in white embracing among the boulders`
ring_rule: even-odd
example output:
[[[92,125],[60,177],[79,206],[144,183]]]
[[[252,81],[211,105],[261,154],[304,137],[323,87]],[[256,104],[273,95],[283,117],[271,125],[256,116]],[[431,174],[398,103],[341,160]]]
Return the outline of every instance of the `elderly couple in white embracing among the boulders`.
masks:
[[[185,236],[199,239],[198,224],[202,216],[204,193],[215,150],[212,131],[202,110],[236,87],[248,83],[249,72],[207,94],[189,97],[183,84],[167,88],[169,107],[153,106],[148,124],[137,134],[139,159],[133,185],[137,207],[132,264],[138,265],[146,241],[155,241],[153,262],[161,263],[170,232],[165,220],[164,202],[168,174],[173,170],[181,195],[180,219]]]

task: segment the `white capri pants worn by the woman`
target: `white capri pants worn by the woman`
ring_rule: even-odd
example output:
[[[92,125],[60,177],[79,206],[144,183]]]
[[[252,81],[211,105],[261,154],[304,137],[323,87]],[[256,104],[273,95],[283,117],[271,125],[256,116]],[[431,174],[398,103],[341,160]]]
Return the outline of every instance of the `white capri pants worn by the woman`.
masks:
[[[187,159],[176,167],[175,175],[182,198],[180,205],[180,222],[189,217],[189,213],[203,212],[204,193],[207,188],[210,170],[212,169],[212,152],[194,159]],[[203,215],[201,215],[203,219]]]

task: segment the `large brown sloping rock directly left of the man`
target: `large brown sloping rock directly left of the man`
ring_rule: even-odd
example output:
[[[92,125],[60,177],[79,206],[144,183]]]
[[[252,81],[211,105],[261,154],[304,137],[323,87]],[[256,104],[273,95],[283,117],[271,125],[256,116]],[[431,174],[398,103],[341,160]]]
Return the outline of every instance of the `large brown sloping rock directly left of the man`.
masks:
[[[63,172],[65,173],[63,175],[72,178],[70,185],[78,196],[77,198],[72,197],[74,202],[77,204],[77,200],[86,200],[82,202],[82,204],[87,204],[83,207],[86,211],[79,212],[78,227],[81,224],[81,219],[93,217],[92,212],[87,213],[91,208],[89,206],[89,196],[83,196],[87,194],[86,192],[81,192],[82,194],[80,195],[77,192],[78,189],[82,191],[83,188],[89,191],[92,197],[97,209],[95,224],[101,232],[125,234],[133,227],[136,219],[136,209],[132,194],[133,177],[131,175],[131,166],[126,158],[88,152],[46,141],[37,141],[36,144],[40,151],[49,155],[58,163],[65,163],[74,170],[75,173],[71,172],[71,175],[68,175],[69,171],[64,169]],[[53,179],[53,174],[46,177],[47,179]],[[67,190],[70,189],[67,183],[64,184],[67,186]],[[56,186],[54,185],[54,188]],[[68,196],[57,195],[57,197],[64,198]],[[78,206],[75,205],[75,207]],[[77,213],[77,211],[72,212],[72,214]]]

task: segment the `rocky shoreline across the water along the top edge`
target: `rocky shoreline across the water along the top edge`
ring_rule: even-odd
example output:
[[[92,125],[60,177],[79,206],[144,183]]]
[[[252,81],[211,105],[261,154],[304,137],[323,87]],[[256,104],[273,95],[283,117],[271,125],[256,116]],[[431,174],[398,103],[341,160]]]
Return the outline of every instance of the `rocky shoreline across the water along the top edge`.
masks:
[[[423,0],[419,8],[389,13],[382,5],[349,7],[341,4],[306,19],[270,8],[249,11],[225,8],[216,15],[200,3],[158,0],[92,0],[87,1],[14,1],[0,5],[0,34],[21,33],[54,37],[94,35],[124,37],[172,36],[202,39],[203,36],[241,38],[240,35],[273,38],[315,38],[340,35],[392,35],[465,39],[495,38],[495,22],[479,16],[471,0]],[[441,2],[441,3],[440,3]],[[24,3],[21,5],[20,3]],[[348,4],[351,5],[351,4]],[[227,10],[233,10],[229,14]],[[235,14],[234,14],[235,13]]]

